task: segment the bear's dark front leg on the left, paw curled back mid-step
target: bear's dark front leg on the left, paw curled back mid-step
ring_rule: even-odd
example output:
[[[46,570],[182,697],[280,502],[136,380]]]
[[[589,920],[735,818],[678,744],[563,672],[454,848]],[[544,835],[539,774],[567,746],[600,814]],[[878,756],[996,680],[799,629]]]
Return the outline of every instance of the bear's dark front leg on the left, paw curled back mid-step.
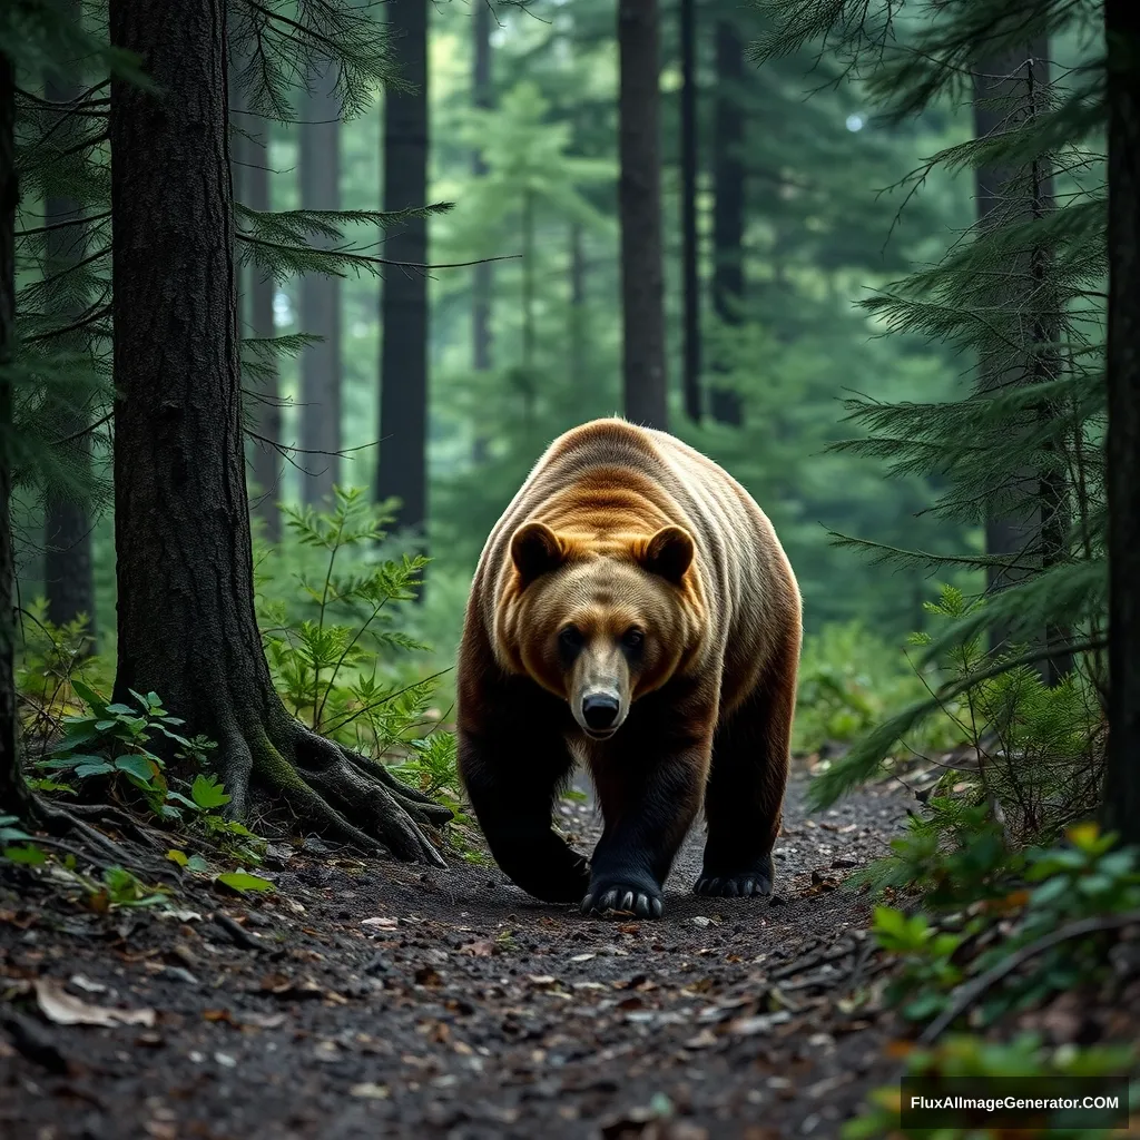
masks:
[[[503,873],[535,898],[576,903],[589,864],[551,826],[554,799],[573,771],[565,741],[548,728],[459,730],[459,774]]]

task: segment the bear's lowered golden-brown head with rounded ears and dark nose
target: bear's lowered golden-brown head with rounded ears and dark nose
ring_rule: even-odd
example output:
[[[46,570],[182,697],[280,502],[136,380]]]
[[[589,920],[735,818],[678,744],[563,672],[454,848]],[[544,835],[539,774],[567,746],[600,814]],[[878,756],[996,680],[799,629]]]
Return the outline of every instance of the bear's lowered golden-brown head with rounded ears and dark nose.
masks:
[[[698,648],[694,554],[681,527],[602,542],[524,523],[511,538],[499,645],[516,670],[570,703],[583,732],[605,740]]]

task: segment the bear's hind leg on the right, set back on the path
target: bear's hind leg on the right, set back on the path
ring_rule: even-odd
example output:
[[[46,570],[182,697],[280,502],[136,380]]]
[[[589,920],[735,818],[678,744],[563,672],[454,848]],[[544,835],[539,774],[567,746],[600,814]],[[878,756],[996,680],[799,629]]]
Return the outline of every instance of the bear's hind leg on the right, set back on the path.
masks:
[[[705,793],[705,865],[693,887],[698,895],[772,894],[772,848],[788,785],[796,663],[796,657],[779,662],[768,673],[768,684],[717,731]]]

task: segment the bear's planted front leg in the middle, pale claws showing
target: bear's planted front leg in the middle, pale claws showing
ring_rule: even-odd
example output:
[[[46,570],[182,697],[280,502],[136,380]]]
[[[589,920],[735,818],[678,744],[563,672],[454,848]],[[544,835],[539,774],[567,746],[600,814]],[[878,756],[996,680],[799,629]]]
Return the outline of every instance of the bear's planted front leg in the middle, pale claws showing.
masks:
[[[702,724],[663,702],[653,705],[638,710],[640,723],[630,716],[593,765],[605,826],[581,904],[587,914],[619,910],[660,918],[665,880],[700,807],[714,717]]]

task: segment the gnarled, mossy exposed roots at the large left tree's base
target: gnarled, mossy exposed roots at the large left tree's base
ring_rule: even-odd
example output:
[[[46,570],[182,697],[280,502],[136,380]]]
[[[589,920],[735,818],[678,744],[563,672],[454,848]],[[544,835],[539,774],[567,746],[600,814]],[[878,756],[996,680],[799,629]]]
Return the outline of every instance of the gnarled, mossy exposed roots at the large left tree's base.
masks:
[[[368,854],[386,849],[405,862],[447,865],[421,829],[446,823],[449,808],[284,710],[249,734],[222,734],[219,763],[235,817],[246,813],[252,780],[329,839]]]

